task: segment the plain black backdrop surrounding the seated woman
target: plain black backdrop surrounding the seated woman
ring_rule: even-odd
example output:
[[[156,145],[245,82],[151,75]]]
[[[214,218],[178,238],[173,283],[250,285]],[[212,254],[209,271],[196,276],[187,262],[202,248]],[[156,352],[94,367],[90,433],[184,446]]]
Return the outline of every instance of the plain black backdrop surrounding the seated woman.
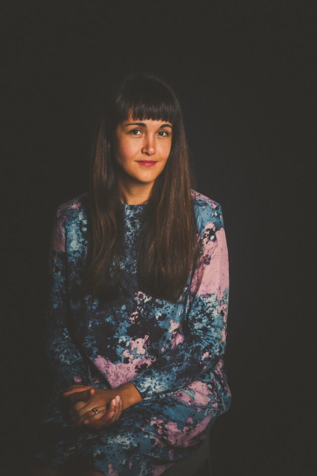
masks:
[[[232,406],[213,427],[213,474],[316,474],[314,18],[314,2],[6,3],[7,474],[23,468],[25,429],[48,388],[41,333],[53,214],[87,190],[101,100],[133,71],[174,88],[197,190],[223,211]]]

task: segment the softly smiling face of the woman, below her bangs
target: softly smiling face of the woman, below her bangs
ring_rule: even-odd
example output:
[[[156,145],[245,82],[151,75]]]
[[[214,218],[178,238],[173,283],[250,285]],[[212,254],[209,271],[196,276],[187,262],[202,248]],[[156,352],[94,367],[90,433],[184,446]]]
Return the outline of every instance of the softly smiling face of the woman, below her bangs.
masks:
[[[154,183],[163,171],[172,143],[172,124],[161,120],[133,120],[115,130],[115,159],[125,179]]]

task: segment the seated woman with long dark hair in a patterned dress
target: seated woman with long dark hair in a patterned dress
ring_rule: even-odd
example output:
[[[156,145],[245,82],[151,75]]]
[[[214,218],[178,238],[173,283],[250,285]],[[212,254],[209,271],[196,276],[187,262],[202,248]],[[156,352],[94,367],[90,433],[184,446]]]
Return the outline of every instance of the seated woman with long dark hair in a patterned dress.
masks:
[[[89,192],[60,205],[53,226],[56,385],[33,476],[159,476],[231,403],[222,212],[192,188],[179,102],[136,74],[105,111]]]

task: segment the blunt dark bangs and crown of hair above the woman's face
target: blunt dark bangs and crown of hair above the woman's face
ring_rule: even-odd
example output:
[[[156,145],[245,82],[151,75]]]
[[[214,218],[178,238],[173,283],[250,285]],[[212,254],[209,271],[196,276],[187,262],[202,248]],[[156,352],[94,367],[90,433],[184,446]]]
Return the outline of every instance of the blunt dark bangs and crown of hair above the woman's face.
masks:
[[[117,97],[117,123],[132,119],[162,120],[176,124],[180,117],[180,106],[166,85],[157,78],[134,78],[125,84]]]

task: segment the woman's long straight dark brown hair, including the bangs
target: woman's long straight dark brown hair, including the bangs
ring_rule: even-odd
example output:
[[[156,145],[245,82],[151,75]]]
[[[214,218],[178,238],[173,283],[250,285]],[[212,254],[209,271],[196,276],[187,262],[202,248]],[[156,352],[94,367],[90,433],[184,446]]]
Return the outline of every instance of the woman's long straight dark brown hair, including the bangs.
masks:
[[[177,301],[200,254],[192,194],[195,177],[179,101],[169,85],[148,73],[130,74],[106,98],[90,169],[83,286],[106,300],[122,290],[119,261],[124,221],[113,141],[118,123],[128,119],[129,113],[133,120],[164,120],[173,125],[169,157],[142,209],[137,269],[140,290]]]

